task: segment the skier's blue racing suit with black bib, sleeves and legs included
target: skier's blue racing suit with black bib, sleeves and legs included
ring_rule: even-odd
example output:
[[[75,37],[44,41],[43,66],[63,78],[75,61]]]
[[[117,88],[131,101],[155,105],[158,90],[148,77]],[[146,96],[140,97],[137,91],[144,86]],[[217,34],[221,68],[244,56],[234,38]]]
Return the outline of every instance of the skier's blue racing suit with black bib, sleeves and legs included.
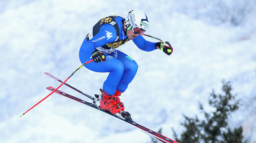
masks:
[[[85,67],[95,72],[109,72],[103,90],[110,95],[115,94],[116,90],[124,92],[138,70],[138,65],[132,58],[116,50],[129,41],[124,32],[124,21],[120,16],[108,16],[99,20],[87,34],[79,51],[82,63],[91,60],[95,50],[105,54],[105,62],[90,62]],[[146,41],[141,35],[134,38],[133,42],[143,51],[155,50],[155,43]]]

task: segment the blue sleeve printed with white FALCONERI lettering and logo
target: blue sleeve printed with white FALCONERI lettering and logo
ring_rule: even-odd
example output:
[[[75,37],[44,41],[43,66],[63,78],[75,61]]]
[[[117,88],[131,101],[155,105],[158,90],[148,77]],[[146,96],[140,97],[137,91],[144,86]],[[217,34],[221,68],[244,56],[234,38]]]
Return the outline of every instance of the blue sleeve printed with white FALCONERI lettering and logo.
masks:
[[[92,54],[95,51],[94,48],[103,46],[107,43],[112,43],[116,39],[116,30],[113,25],[104,24],[101,26],[100,31],[93,36],[90,40],[82,43],[81,49],[83,53]]]

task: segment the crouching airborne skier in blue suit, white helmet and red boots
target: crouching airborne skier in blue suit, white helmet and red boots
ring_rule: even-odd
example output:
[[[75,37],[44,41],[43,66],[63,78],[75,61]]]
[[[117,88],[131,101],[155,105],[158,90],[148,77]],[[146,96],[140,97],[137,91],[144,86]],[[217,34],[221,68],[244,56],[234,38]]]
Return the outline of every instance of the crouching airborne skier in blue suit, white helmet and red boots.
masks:
[[[100,108],[113,114],[124,111],[124,104],[119,96],[134,78],[137,63],[117,47],[129,40],[133,40],[136,46],[143,51],[161,49],[166,54],[172,54],[172,46],[169,42],[152,43],[146,41],[141,34],[149,28],[149,20],[143,11],[130,11],[126,19],[120,16],[108,16],[99,20],[89,31],[79,51],[82,63],[90,60],[85,65],[95,72],[109,72],[104,81],[101,93]]]

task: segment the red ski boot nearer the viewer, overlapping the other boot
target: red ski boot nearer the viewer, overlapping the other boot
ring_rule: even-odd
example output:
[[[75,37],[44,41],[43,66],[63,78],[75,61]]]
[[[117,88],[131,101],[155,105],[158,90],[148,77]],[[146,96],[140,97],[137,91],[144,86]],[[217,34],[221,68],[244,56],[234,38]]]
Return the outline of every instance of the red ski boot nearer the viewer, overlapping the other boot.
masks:
[[[113,114],[120,113],[121,108],[118,105],[116,105],[113,98],[114,95],[107,94],[106,92],[104,92],[104,90],[102,90],[100,108],[108,110]]]

